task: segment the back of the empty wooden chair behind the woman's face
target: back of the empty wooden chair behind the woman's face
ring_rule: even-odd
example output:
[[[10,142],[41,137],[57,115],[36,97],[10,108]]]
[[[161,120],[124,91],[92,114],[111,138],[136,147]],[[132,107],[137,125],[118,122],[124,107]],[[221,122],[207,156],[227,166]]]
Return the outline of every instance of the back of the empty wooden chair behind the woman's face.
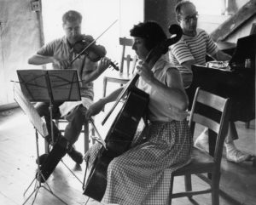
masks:
[[[125,53],[125,51],[127,51],[127,47],[132,47],[133,40],[131,38],[127,38],[127,37],[119,37],[119,45],[122,47],[119,70],[122,73],[122,72],[124,72],[124,67],[126,67],[127,75],[133,74],[133,72],[135,70],[135,65],[137,62],[137,55],[134,54],[131,57],[131,54]],[[126,65],[125,65],[125,61],[126,61]]]

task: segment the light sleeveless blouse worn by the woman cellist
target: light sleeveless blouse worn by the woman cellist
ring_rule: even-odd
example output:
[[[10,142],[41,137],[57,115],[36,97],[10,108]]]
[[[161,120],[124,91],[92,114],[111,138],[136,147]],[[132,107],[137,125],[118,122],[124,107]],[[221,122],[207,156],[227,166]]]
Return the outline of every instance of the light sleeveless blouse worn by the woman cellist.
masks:
[[[166,73],[168,69],[177,69],[173,67],[169,62],[167,62],[162,56],[158,60],[152,71],[154,77],[158,79],[161,83],[166,83]],[[148,83],[143,81],[143,78],[139,78],[137,85],[138,88],[142,89],[144,92],[149,94],[149,103],[148,103],[148,120],[151,122],[171,122],[172,120],[182,121],[185,117],[188,116],[186,111],[181,111],[176,107],[172,106],[170,102],[163,100],[162,95],[154,90]]]

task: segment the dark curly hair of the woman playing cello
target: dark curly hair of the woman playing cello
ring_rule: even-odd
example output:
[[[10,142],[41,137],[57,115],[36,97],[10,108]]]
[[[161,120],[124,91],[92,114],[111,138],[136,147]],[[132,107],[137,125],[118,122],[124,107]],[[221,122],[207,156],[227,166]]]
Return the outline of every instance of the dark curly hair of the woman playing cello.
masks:
[[[130,35],[131,37],[143,37],[145,39],[145,47],[148,50],[151,50],[157,44],[167,39],[165,31],[153,20],[148,20],[147,22],[133,26],[130,30]]]

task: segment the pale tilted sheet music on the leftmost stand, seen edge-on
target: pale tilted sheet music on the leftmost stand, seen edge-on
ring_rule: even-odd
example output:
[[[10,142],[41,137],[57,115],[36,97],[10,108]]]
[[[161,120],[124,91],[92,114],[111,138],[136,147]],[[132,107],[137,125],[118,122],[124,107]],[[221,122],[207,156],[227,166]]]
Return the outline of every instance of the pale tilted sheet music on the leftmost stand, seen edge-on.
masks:
[[[14,84],[14,97],[15,101],[20,105],[20,108],[25,112],[32,125],[38,130],[38,133],[43,137],[48,135],[45,122],[38,115],[38,111],[34,108],[31,102],[22,94],[20,88]]]

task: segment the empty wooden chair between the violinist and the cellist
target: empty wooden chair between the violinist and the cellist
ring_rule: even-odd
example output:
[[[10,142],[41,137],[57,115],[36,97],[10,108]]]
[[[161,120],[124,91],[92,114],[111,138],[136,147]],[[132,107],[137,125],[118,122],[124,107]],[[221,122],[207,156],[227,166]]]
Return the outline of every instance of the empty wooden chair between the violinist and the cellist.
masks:
[[[131,47],[133,40],[131,38],[119,37],[119,45],[122,47],[119,72],[112,72],[111,75],[103,78],[103,97],[106,96],[108,83],[119,83],[121,86],[127,83],[133,76],[137,55],[131,58],[131,54],[125,54],[126,48]],[[126,64],[125,64],[126,61]],[[126,67],[126,71],[124,71]]]

